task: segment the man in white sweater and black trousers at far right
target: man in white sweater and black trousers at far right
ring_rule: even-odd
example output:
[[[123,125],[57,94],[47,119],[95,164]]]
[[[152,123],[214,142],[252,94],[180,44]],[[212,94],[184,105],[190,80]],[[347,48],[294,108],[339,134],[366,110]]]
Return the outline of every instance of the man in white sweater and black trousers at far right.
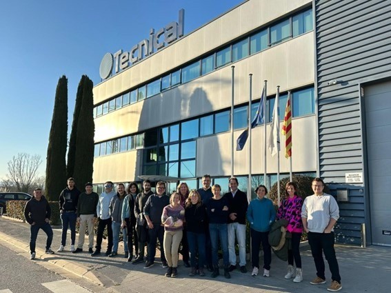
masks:
[[[339,266],[334,250],[334,225],[339,219],[337,201],[330,194],[323,192],[324,183],[320,178],[312,181],[314,195],[305,198],[301,209],[303,229],[308,233],[308,243],[317,268],[317,277],[311,281],[312,285],[325,283],[325,263],[323,254],[328,261],[332,283],[328,291],[336,292],[342,289]]]

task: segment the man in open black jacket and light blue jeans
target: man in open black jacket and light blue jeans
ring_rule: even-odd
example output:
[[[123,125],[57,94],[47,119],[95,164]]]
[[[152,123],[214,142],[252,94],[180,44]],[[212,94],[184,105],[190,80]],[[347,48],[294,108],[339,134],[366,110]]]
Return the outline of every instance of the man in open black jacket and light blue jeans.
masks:
[[[235,236],[239,244],[239,266],[242,273],[245,268],[245,213],[248,208],[247,194],[239,190],[239,182],[236,177],[229,179],[230,192],[224,196],[230,199],[230,216],[228,219],[228,251],[230,253],[230,272],[237,267],[237,254],[235,252]]]

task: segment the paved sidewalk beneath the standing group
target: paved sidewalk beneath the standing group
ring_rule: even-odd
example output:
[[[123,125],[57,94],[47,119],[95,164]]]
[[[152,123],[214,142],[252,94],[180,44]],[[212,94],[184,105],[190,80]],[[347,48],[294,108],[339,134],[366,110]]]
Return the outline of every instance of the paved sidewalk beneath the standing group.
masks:
[[[60,245],[61,230],[54,229],[52,249],[54,251]],[[77,235],[78,237],[78,235]],[[30,239],[30,226],[27,223],[19,223],[0,217],[0,244],[4,241],[12,243],[19,249],[28,251]],[[70,234],[68,238],[70,241]],[[103,292],[328,292],[330,285],[330,272],[326,263],[327,283],[323,285],[310,285],[314,279],[314,262],[310,253],[310,247],[303,246],[301,251],[303,263],[303,282],[293,283],[292,279],[285,280],[286,263],[272,256],[272,269],[270,278],[261,274],[251,276],[251,267],[248,263],[248,273],[234,271],[231,279],[223,276],[212,279],[208,276],[188,276],[190,269],[183,267],[179,261],[178,277],[176,279],[164,276],[166,269],[161,267],[159,258],[155,265],[148,270],[143,269],[143,263],[132,265],[123,258],[123,247],[119,247],[119,256],[108,258],[99,256],[92,258],[87,252],[72,254],[67,252],[53,255],[44,254],[46,234],[39,232],[37,239],[37,258],[41,255],[45,261],[51,261],[61,265],[64,269],[74,274],[83,276],[95,284],[106,287]],[[85,242],[86,250],[88,241]],[[102,245],[103,251],[106,243]],[[337,259],[341,272],[343,288],[339,292],[391,292],[391,247],[370,246],[363,249],[357,246],[336,245]],[[27,260],[26,260],[27,261]],[[261,259],[262,261],[262,259]],[[261,271],[261,270],[260,270]],[[222,272],[222,270],[221,270]]]

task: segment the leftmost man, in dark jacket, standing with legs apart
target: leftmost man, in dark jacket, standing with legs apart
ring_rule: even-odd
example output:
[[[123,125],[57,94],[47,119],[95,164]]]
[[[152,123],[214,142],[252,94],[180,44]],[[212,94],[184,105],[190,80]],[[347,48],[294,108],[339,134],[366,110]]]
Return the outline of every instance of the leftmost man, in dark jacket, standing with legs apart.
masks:
[[[30,224],[31,231],[30,259],[35,259],[35,242],[37,241],[39,229],[42,229],[48,236],[46,240],[46,254],[54,254],[50,249],[53,240],[53,230],[49,224],[51,213],[52,210],[45,196],[42,196],[41,188],[36,188],[34,190],[34,196],[26,203],[24,208],[24,217]]]

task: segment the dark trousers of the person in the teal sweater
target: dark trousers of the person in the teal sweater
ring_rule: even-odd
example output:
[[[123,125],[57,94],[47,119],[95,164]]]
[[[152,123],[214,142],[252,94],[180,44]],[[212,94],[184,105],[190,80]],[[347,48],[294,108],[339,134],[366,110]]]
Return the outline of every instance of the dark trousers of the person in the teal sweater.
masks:
[[[269,232],[258,232],[251,229],[251,263],[252,267],[259,268],[259,247],[263,249],[263,268],[270,270],[270,263],[272,263],[272,247],[269,244]]]

